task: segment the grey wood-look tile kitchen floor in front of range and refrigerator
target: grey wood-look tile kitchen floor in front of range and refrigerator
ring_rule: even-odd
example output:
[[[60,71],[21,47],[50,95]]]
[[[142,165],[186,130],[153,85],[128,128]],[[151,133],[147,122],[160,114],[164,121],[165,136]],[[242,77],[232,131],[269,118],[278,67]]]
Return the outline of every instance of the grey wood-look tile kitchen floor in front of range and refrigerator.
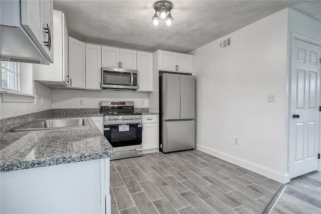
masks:
[[[262,213],[281,183],[198,150],[110,161],[111,213]]]

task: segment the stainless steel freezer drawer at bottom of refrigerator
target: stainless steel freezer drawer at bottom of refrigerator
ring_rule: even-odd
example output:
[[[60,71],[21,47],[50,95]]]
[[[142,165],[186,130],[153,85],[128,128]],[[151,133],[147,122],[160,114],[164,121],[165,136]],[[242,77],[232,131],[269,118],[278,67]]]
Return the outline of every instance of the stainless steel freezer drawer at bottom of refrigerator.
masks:
[[[163,121],[163,152],[195,149],[195,121]]]

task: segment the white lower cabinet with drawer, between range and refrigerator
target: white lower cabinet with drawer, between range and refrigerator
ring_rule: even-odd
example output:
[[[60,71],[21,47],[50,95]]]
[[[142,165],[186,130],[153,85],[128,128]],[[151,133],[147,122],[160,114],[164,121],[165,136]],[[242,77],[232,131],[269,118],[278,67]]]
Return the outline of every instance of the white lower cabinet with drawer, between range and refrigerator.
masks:
[[[156,152],[158,150],[158,123],[157,115],[142,116],[142,150],[143,153]]]

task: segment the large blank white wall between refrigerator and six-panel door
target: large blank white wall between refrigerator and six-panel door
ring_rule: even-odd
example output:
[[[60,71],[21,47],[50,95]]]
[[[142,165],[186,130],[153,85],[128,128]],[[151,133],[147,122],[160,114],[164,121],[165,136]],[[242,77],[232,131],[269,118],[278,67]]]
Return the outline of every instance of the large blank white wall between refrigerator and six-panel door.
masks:
[[[219,51],[229,37],[232,46]],[[286,176],[286,41],[284,9],[191,52],[197,148],[280,182]],[[268,93],[276,93],[275,102]]]

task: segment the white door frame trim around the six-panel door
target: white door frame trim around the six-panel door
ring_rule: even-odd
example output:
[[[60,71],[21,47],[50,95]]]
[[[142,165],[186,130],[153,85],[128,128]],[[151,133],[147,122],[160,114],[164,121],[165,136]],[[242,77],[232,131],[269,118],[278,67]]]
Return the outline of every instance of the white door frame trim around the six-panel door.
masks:
[[[287,172],[288,172],[288,175],[290,175],[290,155],[291,155],[291,121],[292,121],[292,118],[290,117],[290,113],[292,111],[292,69],[293,69],[293,58],[294,58],[294,39],[298,39],[300,41],[303,41],[303,42],[307,42],[307,43],[310,43],[310,44],[313,44],[313,45],[317,45],[317,46],[320,46],[321,47],[321,42],[318,42],[318,41],[315,41],[315,40],[312,40],[312,39],[309,39],[307,37],[304,37],[304,36],[300,36],[298,34],[295,34],[293,32],[291,32],[291,41],[290,41],[290,57],[289,57],[289,73],[288,73],[288,78],[287,78],[287,102],[286,104],[288,105],[288,108],[286,108],[286,121],[287,121],[287,126],[286,126],[286,129],[287,129]],[[321,57],[321,56],[320,56]],[[320,63],[320,62],[319,62]],[[319,81],[321,82],[321,75],[320,75],[320,79]],[[320,89],[321,90],[321,89]],[[320,101],[318,103],[318,105],[321,105],[321,91],[320,91]],[[318,153],[321,153],[321,114],[319,114],[319,120],[320,120],[320,123],[319,123],[319,136],[318,136]],[[317,171],[321,171],[321,159],[318,160],[318,169]],[[287,183],[288,181],[290,181],[290,176],[288,176],[288,179],[285,180],[285,183]]]

